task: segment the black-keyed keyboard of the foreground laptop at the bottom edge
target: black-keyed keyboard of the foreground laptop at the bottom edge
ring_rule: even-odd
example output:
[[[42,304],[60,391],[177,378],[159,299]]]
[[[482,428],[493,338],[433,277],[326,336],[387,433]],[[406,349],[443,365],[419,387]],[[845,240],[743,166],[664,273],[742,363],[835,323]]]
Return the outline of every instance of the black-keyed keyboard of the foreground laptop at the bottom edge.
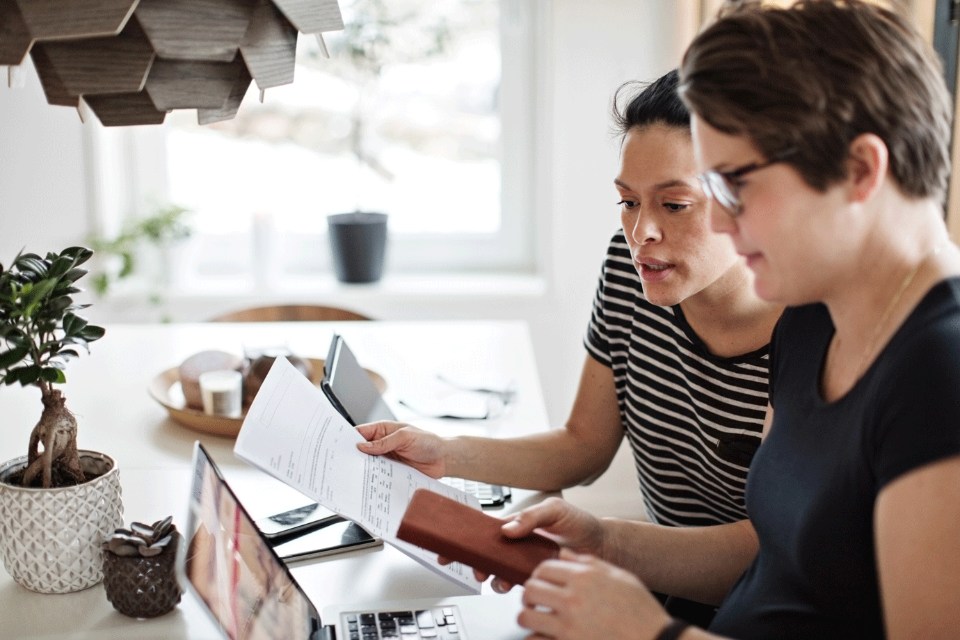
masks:
[[[455,606],[444,606],[343,615],[349,640],[460,640],[458,614]]]

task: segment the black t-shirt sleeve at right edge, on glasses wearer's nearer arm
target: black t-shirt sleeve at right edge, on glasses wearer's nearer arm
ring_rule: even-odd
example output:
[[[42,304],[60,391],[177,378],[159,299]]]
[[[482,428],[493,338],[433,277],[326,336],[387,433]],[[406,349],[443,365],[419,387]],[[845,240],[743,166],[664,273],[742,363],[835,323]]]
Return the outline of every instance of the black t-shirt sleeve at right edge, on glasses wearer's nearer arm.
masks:
[[[924,464],[960,454],[960,319],[902,347],[886,375],[872,444],[877,490]]]

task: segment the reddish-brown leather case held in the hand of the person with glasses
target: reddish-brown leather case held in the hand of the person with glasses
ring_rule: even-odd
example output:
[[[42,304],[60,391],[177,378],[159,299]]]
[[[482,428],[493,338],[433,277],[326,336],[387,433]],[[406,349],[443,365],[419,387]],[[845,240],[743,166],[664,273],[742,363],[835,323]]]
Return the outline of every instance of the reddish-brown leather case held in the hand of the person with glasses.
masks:
[[[396,537],[514,584],[530,578],[537,565],[557,557],[560,547],[538,533],[509,538],[503,520],[419,488],[410,500]]]

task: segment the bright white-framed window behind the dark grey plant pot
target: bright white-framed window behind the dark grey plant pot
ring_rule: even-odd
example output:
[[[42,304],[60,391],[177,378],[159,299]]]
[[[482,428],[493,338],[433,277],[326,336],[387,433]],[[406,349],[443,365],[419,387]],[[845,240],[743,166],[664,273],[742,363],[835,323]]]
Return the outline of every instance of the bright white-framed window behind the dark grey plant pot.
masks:
[[[388,272],[532,272],[537,2],[341,9],[348,29],[324,35],[331,58],[301,34],[294,83],[262,103],[252,83],[232,120],[201,127],[174,111],[160,154],[141,153],[150,133],[132,131],[133,170],[149,177],[133,180],[140,196],[157,200],[149,185],[165,182],[158,199],[194,212],[180,279],[237,290],[327,273],[325,215],[356,209],[390,216]]]

